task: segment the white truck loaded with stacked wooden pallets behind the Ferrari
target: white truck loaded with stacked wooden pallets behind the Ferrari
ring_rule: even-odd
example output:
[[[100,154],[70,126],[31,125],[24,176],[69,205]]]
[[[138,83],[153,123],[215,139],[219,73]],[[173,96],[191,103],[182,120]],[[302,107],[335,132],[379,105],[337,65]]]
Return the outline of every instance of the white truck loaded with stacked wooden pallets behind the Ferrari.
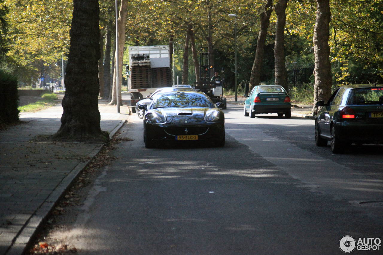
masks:
[[[172,70],[168,45],[129,47],[128,92],[131,110],[136,103],[157,88],[172,86]],[[133,106],[133,107],[132,107]]]

